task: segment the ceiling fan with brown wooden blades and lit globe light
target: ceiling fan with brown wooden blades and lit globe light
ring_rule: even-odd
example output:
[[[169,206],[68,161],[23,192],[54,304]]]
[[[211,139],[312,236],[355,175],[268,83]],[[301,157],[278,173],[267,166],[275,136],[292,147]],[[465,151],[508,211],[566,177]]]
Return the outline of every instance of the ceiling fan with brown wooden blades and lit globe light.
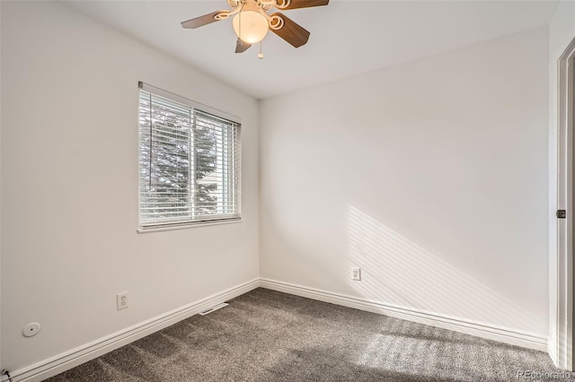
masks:
[[[234,16],[233,26],[237,35],[235,53],[243,53],[252,44],[260,42],[271,30],[285,39],[295,48],[299,48],[309,39],[309,31],[282,13],[269,14],[271,8],[289,10],[327,5],[330,0],[227,0],[232,11],[216,11],[195,19],[181,22],[183,28],[196,29],[212,22],[229,19]],[[263,55],[258,55],[260,58]]]

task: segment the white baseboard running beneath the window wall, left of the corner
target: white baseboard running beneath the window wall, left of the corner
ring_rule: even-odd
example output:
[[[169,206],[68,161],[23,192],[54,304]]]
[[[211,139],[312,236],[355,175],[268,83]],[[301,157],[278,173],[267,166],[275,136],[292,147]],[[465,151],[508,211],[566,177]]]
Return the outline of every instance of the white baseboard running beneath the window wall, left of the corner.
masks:
[[[252,280],[251,282],[244,282],[243,284],[237,285],[226,291],[222,291],[205,299],[193,302],[185,307],[175,309],[136,326],[131,326],[117,333],[103,337],[93,343],[87,343],[84,346],[78,347],[69,352],[59,354],[49,360],[41,361],[24,369],[11,370],[10,374],[13,378],[13,382],[38,382],[46,378],[53,377],[67,369],[75,368],[88,360],[93,360],[94,358],[100,357],[102,354],[111,352],[128,343],[132,343],[146,335],[153,334],[158,330],[164,329],[164,327],[171,326],[185,318],[194,316],[207,308],[211,308],[226,300],[233,299],[243,293],[252,291],[258,288],[259,284],[260,282],[258,279]],[[7,378],[2,378],[2,381],[7,381]]]

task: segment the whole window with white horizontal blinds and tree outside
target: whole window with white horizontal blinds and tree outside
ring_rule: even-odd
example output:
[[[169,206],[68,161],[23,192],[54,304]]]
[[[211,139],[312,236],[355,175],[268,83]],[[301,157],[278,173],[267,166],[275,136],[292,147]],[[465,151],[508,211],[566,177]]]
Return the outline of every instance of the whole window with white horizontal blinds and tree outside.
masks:
[[[240,220],[240,124],[139,84],[139,230]]]

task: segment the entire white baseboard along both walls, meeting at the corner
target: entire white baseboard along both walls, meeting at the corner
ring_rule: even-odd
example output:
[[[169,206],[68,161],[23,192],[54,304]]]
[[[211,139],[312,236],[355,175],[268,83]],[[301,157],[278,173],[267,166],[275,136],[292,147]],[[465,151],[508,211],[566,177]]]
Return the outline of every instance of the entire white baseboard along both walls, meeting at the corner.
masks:
[[[282,291],[308,299],[330,302],[348,308],[357,308],[390,317],[402,318],[408,321],[418,322],[429,326],[437,326],[455,332],[472,334],[482,338],[487,338],[501,343],[509,343],[528,349],[535,349],[547,352],[547,338],[536,334],[523,333],[509,328],[491,326],[464,320],[455,317],[446,317],[438,314],[420,311],[413,308],[397,307],[373,300],[360,299],[330,291],[321,291],[301,285],[290,284],[288,282],[278,282],[269,279],[255,279],[241,285],[230,288],[226,291],[214,294],[182,308],[167,312],[164,315],[149,319],[136,326],[128,327],[115,334],[103,337],[93,343],[73,349],[52,357],[49,360],[41,361],[30,367],[12,370],[13,382],[39,382],[46,378],[53,377],[67,369],[100,357],[101,355],[118,349],[128,343],[132,343],[146,335],[153,334],[164,327],[171,326],[185,318],[194,316],[199,312],[213,307],[226,300],[233,299],[248,291],[258,287],[270,289],[272,291]],[[7,378],[0,379],[2,382]]]

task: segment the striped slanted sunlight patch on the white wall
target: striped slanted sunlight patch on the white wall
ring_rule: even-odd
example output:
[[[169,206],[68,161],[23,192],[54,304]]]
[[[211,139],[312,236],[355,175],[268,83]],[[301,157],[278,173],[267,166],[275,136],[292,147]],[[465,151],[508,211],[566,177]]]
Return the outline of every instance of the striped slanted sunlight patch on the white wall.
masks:
[[[352,205],[348,219],[349,267],[362,272],[362,280],[349,280],[349,285],[362,297],[526,331],[545,326],[525,307]],[[492,317],[500,320],[492,322]]]

